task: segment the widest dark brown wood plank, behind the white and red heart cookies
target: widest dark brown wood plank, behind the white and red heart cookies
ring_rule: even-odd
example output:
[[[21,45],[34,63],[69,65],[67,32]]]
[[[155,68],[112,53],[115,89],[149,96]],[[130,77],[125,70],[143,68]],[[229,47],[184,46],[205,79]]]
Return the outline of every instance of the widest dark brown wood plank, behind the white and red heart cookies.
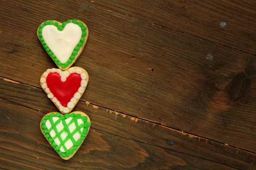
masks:
[[[56,65],[35,30],[77,18],[90,30],[75,64],[90,75],[82,100],[256,152],[255,56],[79,1],[4,0],[0,9],[3,77],[40,87]],[[230,99],[236,88],[242,95]]]

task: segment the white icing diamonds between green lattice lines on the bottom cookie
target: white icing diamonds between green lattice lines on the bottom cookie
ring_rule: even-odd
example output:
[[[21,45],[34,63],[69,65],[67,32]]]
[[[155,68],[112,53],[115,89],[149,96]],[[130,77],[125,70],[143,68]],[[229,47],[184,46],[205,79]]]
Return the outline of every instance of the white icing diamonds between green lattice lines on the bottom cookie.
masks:
[[[54,123],[55,123],[58,119],[60,119],[60,118],[58,118],[58,117],[52,117],[52,120],[53,120]],[[70,117],[70,118],[68,118],[68,119],[65,119],[66,124],[68,125],[71,120],[72,120],[72,117]],[[81,125],[81,124],[84,123],[84,122],[83,122],[81,119],[77,119],[77,123],[78,123],[78,125]],[[46,125],[46,127],[47,127],[48,130],[52,127],[51,122],[49,121],[49,119],[45,122],[45,125]],[[72,132],[76,129],[75,123],[74,123],[74,122],[71,123],[71,125],[69,125],[68,128],[69,128],[69,130],[70,130],[70,133],[72,133]],[[60,132],[61,130],[64,129],[64,125],[63,125],[62,121],[61,121],[58,125],[56,125],[56,129],[58,130],[58,132]],[[81,132],[83,131],[83,129],[84,129],[83,127],[80,128]],[[55,131],[54,131],[53,129],[49,132],[49,134],[50,134],[50,136],[51,136],[52,138],[53,138],[54,136],[56,136],[56,133],[55,133]],[[63,132],[63,133],[60,134],[60,136],[61,136],[61,140],[63,141],[63,140],[66,139],[66,137],[68,136],[68,134],[67,134],[67,132]],[[75,141],[77,141],[78,139],[80,139],[80,137],[81,137],[81,134],[80,134],[79,132],[76,132],[76,133],[73,135],[73,138],[75,139]],[[55,142],[58,146],[61,144],[60,139],[58,139],[58,137],[57,137],[56,139],[54,139],[54,142]],[[69,139],[69,140],[67,140],[67,142],[66,142],[64,145],[65,145],[65,147],[67,147],[67,150],[69,150],[71,147],[73,147],[74,144],[73,144],[73,142],[71,141],[71,139]],[[61,151],[61,152],[66,152],[62,146],[61,146],[61,148],[60,148],[60,151]]]

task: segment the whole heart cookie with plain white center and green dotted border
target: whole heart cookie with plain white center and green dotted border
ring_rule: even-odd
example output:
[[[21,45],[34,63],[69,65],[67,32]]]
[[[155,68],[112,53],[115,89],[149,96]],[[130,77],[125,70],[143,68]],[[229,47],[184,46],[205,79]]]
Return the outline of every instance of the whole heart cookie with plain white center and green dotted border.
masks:
[[[48,20],[38,27],[38,39],[58,68],[70,68],[84,49],[88,28],[79,20]]]

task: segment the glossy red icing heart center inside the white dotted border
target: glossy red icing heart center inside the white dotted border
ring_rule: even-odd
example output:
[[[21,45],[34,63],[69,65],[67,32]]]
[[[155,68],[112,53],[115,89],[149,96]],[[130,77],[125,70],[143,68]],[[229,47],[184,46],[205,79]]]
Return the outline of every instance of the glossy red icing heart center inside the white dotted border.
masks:
[[[58,73],[49,73],[46,84],[52,94],[60,101],[61,105],[67,107],[67,103],[70,102],[70,99],[81,86],[81,80],[80,74],[72,73],[65,82],[62,82],[61,76]]]

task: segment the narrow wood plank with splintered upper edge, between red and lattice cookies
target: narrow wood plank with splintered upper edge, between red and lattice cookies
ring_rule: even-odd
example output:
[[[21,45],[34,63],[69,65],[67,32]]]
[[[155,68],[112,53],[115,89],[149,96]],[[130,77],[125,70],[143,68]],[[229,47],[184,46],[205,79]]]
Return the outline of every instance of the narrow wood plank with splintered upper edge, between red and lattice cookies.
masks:
[[[57,111],[55,105],[44,97],[40,88],[0,79],[0,97],[44,113]],[[126,139],[226,164],[239,169],[253,169],[256,154],[183,133],[152,122],[79,102],[75,110],[90,113],[93,128]],[[168,141],[174,141],[172,146]]]

